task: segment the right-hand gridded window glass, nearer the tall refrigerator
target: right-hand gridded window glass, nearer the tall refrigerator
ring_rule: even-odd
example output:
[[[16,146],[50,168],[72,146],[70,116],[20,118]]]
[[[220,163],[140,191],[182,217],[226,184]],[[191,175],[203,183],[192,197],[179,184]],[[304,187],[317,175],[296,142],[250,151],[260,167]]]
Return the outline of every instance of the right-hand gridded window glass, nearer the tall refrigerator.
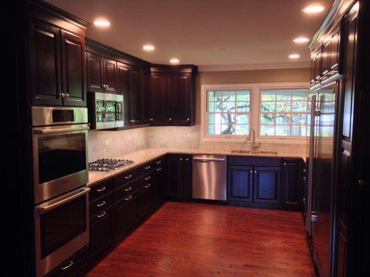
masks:
[[[306,136],[305,89],[260,90],[260,136]]]

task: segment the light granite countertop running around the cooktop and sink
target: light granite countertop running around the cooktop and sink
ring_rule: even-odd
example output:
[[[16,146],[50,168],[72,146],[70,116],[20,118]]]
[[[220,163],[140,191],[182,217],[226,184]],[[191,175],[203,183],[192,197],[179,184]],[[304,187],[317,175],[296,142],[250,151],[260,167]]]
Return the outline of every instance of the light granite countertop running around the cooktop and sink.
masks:
[[[124,154],[120,157],[115,157],[115,159],[128,159],[133,161],[128,166],[122,166],[117,168],[117,170],[112,170],[110,172],[89,172],[89,183],[87,186],[92,186],[99,183],[105,179],[118,175],[119,173],[131,170],[137,166],[142,166],[144,163],[157,159],[165,154],[212,154],[212,155],[228,155],[228,156],[254,156],[254,157],[289,157],[289,158],[301,158],[300,156],[294,156],[289,154],[244,154],[244,153],[231,153],[231,150],[217,150],[217,149],[182,149],[182,148],[148,148],[139,150],[136,152],[131,152]]]

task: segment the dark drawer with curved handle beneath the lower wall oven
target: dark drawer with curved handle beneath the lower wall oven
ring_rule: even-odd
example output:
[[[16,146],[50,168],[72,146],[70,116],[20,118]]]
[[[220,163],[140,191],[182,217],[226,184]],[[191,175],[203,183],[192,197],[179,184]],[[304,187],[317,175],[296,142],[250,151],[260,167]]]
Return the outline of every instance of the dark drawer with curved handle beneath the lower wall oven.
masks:
[[[73,256],[62,262],[53,269],[46,277],[67,277],[76,274],[85,264],[86,247],[75,253]]]

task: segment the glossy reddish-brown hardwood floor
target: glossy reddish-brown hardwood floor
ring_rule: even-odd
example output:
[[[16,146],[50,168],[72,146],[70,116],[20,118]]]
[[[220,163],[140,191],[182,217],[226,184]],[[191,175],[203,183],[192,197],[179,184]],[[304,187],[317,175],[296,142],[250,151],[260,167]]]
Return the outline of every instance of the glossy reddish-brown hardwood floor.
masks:
[[[87,276],[315,276],[301,213],[167,202]]]

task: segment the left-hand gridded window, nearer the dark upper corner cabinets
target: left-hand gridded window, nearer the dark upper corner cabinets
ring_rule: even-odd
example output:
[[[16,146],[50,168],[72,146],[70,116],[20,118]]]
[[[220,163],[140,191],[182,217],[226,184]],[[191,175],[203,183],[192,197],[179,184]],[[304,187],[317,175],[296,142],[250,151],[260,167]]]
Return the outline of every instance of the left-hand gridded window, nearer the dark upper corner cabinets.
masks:
[[[250,90],[207,90],[206,105],[205,125],[208,137],[249,135]]]

